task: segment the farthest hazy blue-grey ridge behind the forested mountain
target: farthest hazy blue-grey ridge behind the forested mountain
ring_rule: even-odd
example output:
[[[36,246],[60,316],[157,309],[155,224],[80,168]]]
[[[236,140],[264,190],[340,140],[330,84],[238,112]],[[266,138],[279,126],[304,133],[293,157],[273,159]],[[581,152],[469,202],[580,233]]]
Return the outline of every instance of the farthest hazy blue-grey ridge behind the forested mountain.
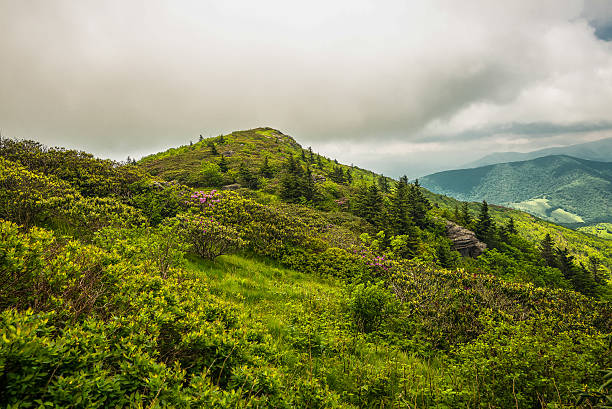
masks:
[[[533,152],[495,152],[474,162],[467,163],[464,168],[477,168],[496,163],[516,162],[541,158],[550,155],[568,155],[575,158],[610,162],[612,161],[612,138],[600,139],[594,142],[580,143],[570,146],[539,149]]]

